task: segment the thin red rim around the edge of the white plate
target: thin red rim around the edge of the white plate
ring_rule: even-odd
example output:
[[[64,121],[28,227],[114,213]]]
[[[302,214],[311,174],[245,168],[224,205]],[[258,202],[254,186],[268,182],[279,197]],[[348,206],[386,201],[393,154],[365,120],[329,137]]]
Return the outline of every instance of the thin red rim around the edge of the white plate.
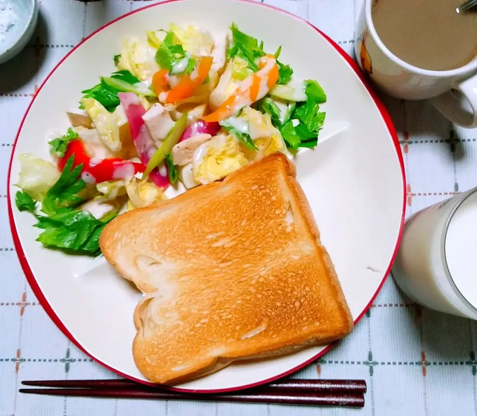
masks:
[[[90,353],[88,353],[82,346],[81,344],[79,344],[79,342],[75,339],[75,337],[73,336],[72,333],[70,333],[65,325],[63,324],[63,322],[61,321],[61,319],[56,315],[56,313],[53,311],[51,305],[47,302],[45,296],[43,295],[43,292],[41,291],[39,285],[38,285],[38,282],[36,281],[36,278],[33,274],[33,271],[31,270],[30,268],[30,265],[28,264],[28,261],[26,259],[26,256],[25,256],[25,253],[23,251],[23,248],[21,247],[21,244],[20,244],[20,239],[19,239],[19,236],[18,236],[18,233],[17,233],[17,230],[16,230],[16,227],[15,227],[15,223],[13,221],[13,209],[12,209],[12,205],[11,205],[11,199],[10,199],[10,186],[9,186],[9,183],[10,183],[10,175],[11,175],[11,166],[13,164],[13,154],[14,154],[14,151],[15,151],[15,146],[16,146],[16,142],[18,141],[18,137],[20,135],[20,131],[21,131],[21,128],[23,126],[23,123],[28,115],[28,112],[30,110],[30,107],[32,106],[33,104],[33,101],[35,100],[36,98],[36,94],[44,87],[44,85],[47,83],[47,81],[49,80],[49,78],[51,77],[51,75],[56,71],[56,69],[77,49],[79,48],[79,46],[81,46],[84,42],[86,42],[89,38],[91,38],[92,36],[94,36],[97,32],[103,30],[104,28],[108,27],[109,25],[113,24],[114,22],[118,21],[118,20],[121,20],[131,14],[134,14],[134,13],[137,13],[141,10],[145,10],[145,9],[148,9],[148,8],[151,8],[151,7],[159,7],[161,4],[165,4],[165,3],[171,3],[171,2],[176,2],[176,1],[181,1],[181,0],[165,0],[165,1],[162,1],[160,3],[155,3],[155,4],[149,4],[147,6],[144,6],[144,7],[141,7],[137,10],[133,10],[129,13],[126,13],[126,14],[123,14],[122,16],[120,17],[117,17],[116,19],[114,20],[111,20],[109,23],[106,23],[105,25],[101,26],[99,29],[95,30],[93,33],[91,33],[89,36],[85,37],[81,42],[79,42],[78,45],[76,45],[70,52],[68,52],[62,59],[61,61],[55,66],[55,68],[53,68],[53,70],[48,74],[48,76],[45,78],[45,80],[43,81],[43,83],[40,85],[40,87],[38,88],[38,90],[36,91],[33,99],[31,100],[30,104],[28,105],[28,108],[26,109],[26,112],[25,112],[25,115],[23,116],[22,120],[21,120],[21,123],[20,123],[20,127],[18,128],[18,132],[16,134],[16,137],[15,137],[15,141],[13,143],[13,146],[12,146],[12,150],[11,150],[11,157],[10,157],[10,162],[9,162],[9,166],[8,166],[8,174],[7,174],[7,201],[8,201],[8,218],[9,218],[9,222],[10,222],[10,228],[11,228],[11,233],[12,233],[12,237],[13,237],[13,244],[14,244],[14,247],[15,247],[15,250],[16,250],[16,253],[17,253],[17,256],[18,256],[18,259],[20,261],[20,265],[21,265],[21,268],[23,270],[23,272],[25,273],[25,277],[29,283],[29,285],[31,286],[31,289],[33,291],[33,293],[35,294],[35,296],[37,297],[39,303],[41,304],[41,306],[43,307],[43,309],[45,310],[45,312],[48,314],[48,316],[50,317],[50,319],[55,323],[55,325],[84,353],[86,354],[88,357],[92,358],[95,362],[97,362],[98,364],[102,365],[103,367],[107,368],[108,370],[116,373],[117,375],[119,376],[122,376],[124,378],[128,378],[130,380],[134,380],[138,383],[141,383],[141,384],[145,384],[145,385],[149,385],[149,386],[155,386],[153,383],[149,383],[147,381],[144,381],[144,380],[140,380],[140,379],[137,379],[135,377],[131,377],[131,376],[128,376],[114,368],[111,368],[110,366],[108,366],[107,364],[105,364],[104,362],[98,360],[97,358],[95,358],[94,356],[92,356]],[[383,121],[386,123],[386,126],[389,130],[389,134],[391,135],[391,137],[393,138],[393,142],[394,142],[394,145],[395,145],[395,148],[396,148],[396,153],[397,153],[397,158],[399,160],[399,166],[401,168],[401,174],[402,174],[402,184],[403,184],[403,189],[404,189],[404,192],[403,192],[403,195],[404,195],[404,198],[403,198],[403,201],[402,201],[402,215],[401,215],[401,224],[400,224],[400,227],[399,227],[399,235],[397,237],[397,242],[396,242],[396,247],[395,247],[395,250],[393,252],[393,256],[391,258],[391,261],[390,261],[390,264],[386,270],[386,272],[384,273],[383,275],[383,279],[378,287],[378,289],[376,290],[376,293],[373,295],[373,297],[371,298],[371,300],[369,301],[369,303],[366,305],[366,308],[363,310],[363,312],[361,312],[361,314],[358,316],[358,318],[356,318],[356,320],[354,321],[354,324],[356,325],[358,323],[358,321],[364,316],[364,314],[366,313],[366,311],[371,307],[373,301],[376,299],[376,296],[378,296],[378,293],[380,292],[380,290],[382,289],[385,281],[386,281],[386,278],[388,276],[388,274],[390,273],[391,271],[391,268],[393,266],[393,263],[394,263],[394,260],[396,258],[396,255],[397,255],[397,250],[398,250],[398,247],[399,247],[399,243],[401,241],[401,238],[402,238],[402,231],[403,231],[403,227],[404,227],[404,216],[405,216],[405,207],[406,207],[406,179],[405,179],[405,171],[404,171],[404,161],[402,159],[402,154],[401,154],[401,149],[400,149],[400,145],[399,145],[399,139],[397,137],[397,132],[396,132],[396,128],[393,124],[393,121],[388,113],[388,110],[386,109],[386,106],[383,104],[383,102],[380,100],[380,98],[377,96],[377,94],[374,92],[374,90],[371,88],[371,86],[369,85],[368,81],[365,79],[365,76],[363,75],[363,73],[361,72],[358,64],[343,50],[341,49],[341,47],[339,47],[336,42],[334,42],[329,36],[325,35],[321,30],[319,30],[317,27],[315,27],[314,25],[312,25],[310,22],[306,21],[305,19],[302,19],[301,17],[298,17],[286,10],[283,10],[283,9],[280,9],[278,7],[275,7],[275,6],[272,6],[272,5],[269,5],[269,4],[263,4],[263,3],[257,3],[253,0],[235,0],[235,1],[244,1],[244,2],[247,2],[247,3],[253,3],[255,5],[257,5],[258,7],[268,7],[268,8],[271,8],[271,9],[274,9],[274,10],[278,10],[282,13],[285,13],[285,14],[288,14],[290,17],[294,18],[294,19],[297,19],[297,20],[300,20],[304,23],[306,23],[307,25],[311,26],[313,29],[315,29],[324,39],[326,39],[330,44],[331,46],[333,46],[333,48],[344,58],[344,60],[348,63],[348,65],[353,69],[353,71],[356,73],[356,75],[358,76],[358,78],[360,79],[360,81],[364,84],[364,86],[366,87],[366,89],[368,90],[369,94],[371,95],[371,97],[373,98],[373,101],[374,103],[376,104],[376,107],[378,108],[379,112],[381,113],[381,116],[383,118]],[[180,388],[180,387],[167,387],[169,390],[172,390],[172,391],[176,391],[176,392],[182,392],[182,393],[225,393],[225,392],[233,392],[233,391],[238,391],[238,390],[242,390],[242,389],[248,389],[248,388],[251,388],[251,387],[256,387],[256,386],[260,386],[262,384],[266,384],[266,383],[270,383],[274,380],[277,380],[281,377],[284,377],[284,376],[287,376],[289,374],[292,374],[298,370],[300,370],[301,368],[307,366],[308,364],[310,364],[311,362],[315,361],[317,358],[319,358],[320,356],[322,356],[323,354],[325,354],[326,352],[328,352],[331,348],[333,348],[336,344],[338,343],[338,341],[336,342],[333,342],[331,344],[329,344],[325,349],[323,349],[321,352],[319,352],[317,355],[313,356],[312,358],[308,359],[307,361],[303,362],[302,364],[288,370],[288,371],[285,371],[277,376],[274,376],[274,377],[270,377],[268,379],[265,379],[265,380],[260,380],[256,383],[252,383],[252,384],[247,384],[247,385],[243,385],[243,386],[239,386],[239,387],[234,387],[234,388],[229,388],[229,389],[214,389],[214,390],[194,390],[194,389],[183,389],[183,388]]]

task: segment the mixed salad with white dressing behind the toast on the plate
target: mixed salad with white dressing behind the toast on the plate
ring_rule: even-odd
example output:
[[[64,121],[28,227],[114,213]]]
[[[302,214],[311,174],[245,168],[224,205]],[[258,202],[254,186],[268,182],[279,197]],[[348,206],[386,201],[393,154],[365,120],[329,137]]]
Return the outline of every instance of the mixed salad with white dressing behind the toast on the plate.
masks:
[[[99,255],[107,222],[166,199],[169,186],[317,145],[318,82],[295,77],[281,47],[271,54],[235,23],[230,30],[171,24],[124,39],[116,71],[81,91],[71,127],[49,141],[51,161],[19,157],[16,205],[36,217],[37,241]]]

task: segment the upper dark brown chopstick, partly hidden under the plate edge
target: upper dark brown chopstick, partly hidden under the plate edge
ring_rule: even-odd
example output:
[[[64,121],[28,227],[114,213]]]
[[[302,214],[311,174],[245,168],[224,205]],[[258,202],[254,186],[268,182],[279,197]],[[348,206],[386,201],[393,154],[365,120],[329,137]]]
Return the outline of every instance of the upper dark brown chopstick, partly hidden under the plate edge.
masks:
[[[166,389],[162,386],[150,387],[141,385],[133,380],[27,380],[22,381],[25,386],[36,387],[63,387],[63,388],[93,388],[93,389]],[[309,380],[309,379],[282,379],[274,383],[256,387],[253,390],[283,390],[288,392],[310,393],[366,393],[366,381],[364,380]],[[249,389],[250,390],[250,389]],[[249,391],[247,390],[247,391]]]

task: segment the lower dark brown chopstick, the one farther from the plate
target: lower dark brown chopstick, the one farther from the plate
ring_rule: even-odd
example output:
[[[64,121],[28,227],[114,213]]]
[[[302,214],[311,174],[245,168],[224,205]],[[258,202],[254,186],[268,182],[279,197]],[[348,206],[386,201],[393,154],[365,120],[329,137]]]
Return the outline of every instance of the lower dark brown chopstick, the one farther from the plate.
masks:
[[[309,406],[346,406],[363,407],[363,394],[349,393],[245,393],[245,394],[183,394],[174,392],[159,392],[154,390],[107,390],[107,389],[20,389],[20,393],[42,394],[50,396],[82,396],[103,398],[128,399],[161,399],[161,400],[199,400],[207,402],[231,403],[270,403],[284,405]]]

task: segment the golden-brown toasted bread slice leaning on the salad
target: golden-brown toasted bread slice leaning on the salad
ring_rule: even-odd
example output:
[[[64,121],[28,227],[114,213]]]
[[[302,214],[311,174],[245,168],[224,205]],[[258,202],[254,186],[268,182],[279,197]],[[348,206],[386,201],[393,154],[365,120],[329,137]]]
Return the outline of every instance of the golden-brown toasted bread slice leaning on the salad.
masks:
[[[149,380],[186,381],[352,330],[295,175],[273,154],[105,227],[104,256],[146,293],[133,355]]]

